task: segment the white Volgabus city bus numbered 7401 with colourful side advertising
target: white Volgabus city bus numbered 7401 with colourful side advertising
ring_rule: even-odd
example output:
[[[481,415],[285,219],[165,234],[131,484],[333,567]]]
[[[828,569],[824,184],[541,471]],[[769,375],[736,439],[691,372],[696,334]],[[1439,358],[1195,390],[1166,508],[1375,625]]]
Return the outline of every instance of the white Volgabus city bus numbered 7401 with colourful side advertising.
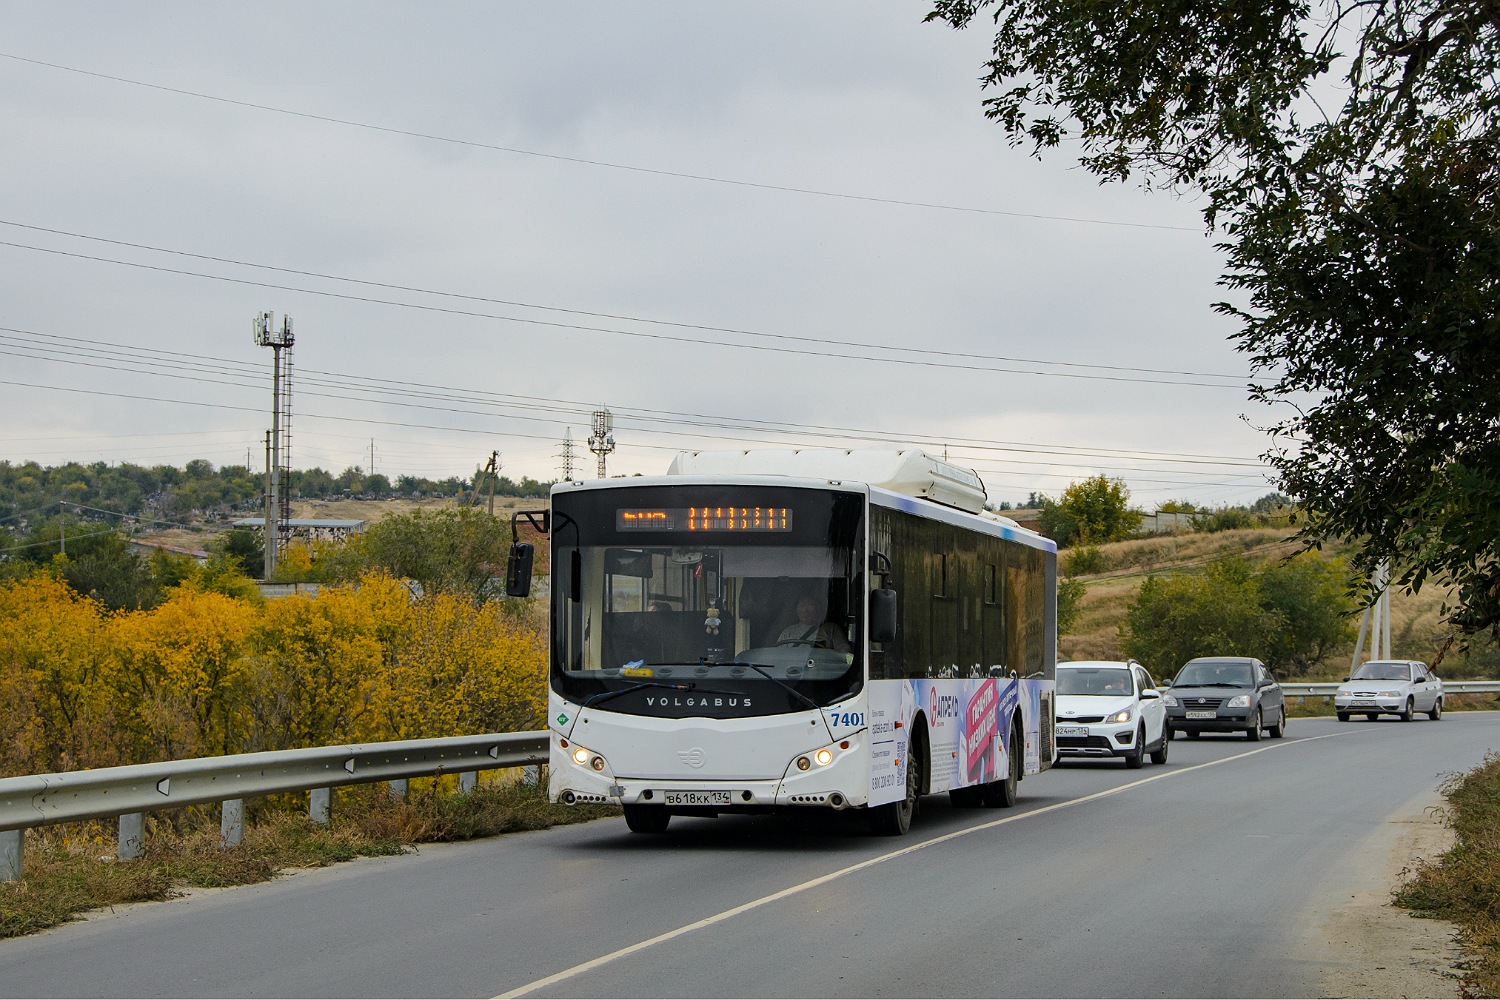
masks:
[[[921,451],[682,453],[560,483],[549,793],[674,814],[1011,805],[1052,766],[1056,546]],[[512,594],[530,592],[518,544]]]

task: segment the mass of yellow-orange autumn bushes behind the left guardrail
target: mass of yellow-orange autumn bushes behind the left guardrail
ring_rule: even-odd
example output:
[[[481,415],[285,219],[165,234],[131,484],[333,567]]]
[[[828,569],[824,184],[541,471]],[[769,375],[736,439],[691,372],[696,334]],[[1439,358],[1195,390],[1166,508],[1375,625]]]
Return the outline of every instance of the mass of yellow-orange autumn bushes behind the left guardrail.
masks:
[[[110,613],[46,573],[0,583],[0,775],[542,724],[537,609],[384,574],[234,592],[189,579]]]

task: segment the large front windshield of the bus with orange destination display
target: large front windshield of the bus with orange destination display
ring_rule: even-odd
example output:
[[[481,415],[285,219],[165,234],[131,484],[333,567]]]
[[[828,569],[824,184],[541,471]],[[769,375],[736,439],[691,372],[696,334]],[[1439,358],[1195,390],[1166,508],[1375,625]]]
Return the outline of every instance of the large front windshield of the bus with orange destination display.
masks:
[[[554,498],[552,687],[600,711],[732,718],[862,682],[862,496],[612,487]]]

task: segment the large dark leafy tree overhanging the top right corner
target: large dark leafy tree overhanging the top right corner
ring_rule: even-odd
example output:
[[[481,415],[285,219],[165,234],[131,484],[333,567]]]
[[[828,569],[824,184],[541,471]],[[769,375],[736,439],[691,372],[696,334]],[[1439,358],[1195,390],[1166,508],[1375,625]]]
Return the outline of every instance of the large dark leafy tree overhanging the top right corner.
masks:
[[[986,114],[1102,180],[1203,196],[1218,309],[1292,400],[1270,430],[1304,540],[1456,586],[1500,634],[1500,13],[1407,3],[938,0],[992,10]]]

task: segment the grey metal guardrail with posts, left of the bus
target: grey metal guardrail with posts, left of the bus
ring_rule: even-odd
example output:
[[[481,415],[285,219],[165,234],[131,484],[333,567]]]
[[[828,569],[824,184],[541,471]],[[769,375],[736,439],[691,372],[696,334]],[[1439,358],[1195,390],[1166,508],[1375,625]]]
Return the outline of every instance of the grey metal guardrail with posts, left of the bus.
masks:
[[[219,838],[225,847],[244,832],[244,799],[310,792],[308,813],[327,823],[332,790],[390,781],[405,795],[410,778],[458,774],[462,790],[480,771],[544,763],[548,733],[488,733],[447,739],[400,739],[309,750],[273,750],[230,757],[165,760],[94,771],[0,778],[0,882],[21,877],[26,831],[33,826],[120,817],[122,861],[142,853],[142,817],[154,810],[222,802]]]

